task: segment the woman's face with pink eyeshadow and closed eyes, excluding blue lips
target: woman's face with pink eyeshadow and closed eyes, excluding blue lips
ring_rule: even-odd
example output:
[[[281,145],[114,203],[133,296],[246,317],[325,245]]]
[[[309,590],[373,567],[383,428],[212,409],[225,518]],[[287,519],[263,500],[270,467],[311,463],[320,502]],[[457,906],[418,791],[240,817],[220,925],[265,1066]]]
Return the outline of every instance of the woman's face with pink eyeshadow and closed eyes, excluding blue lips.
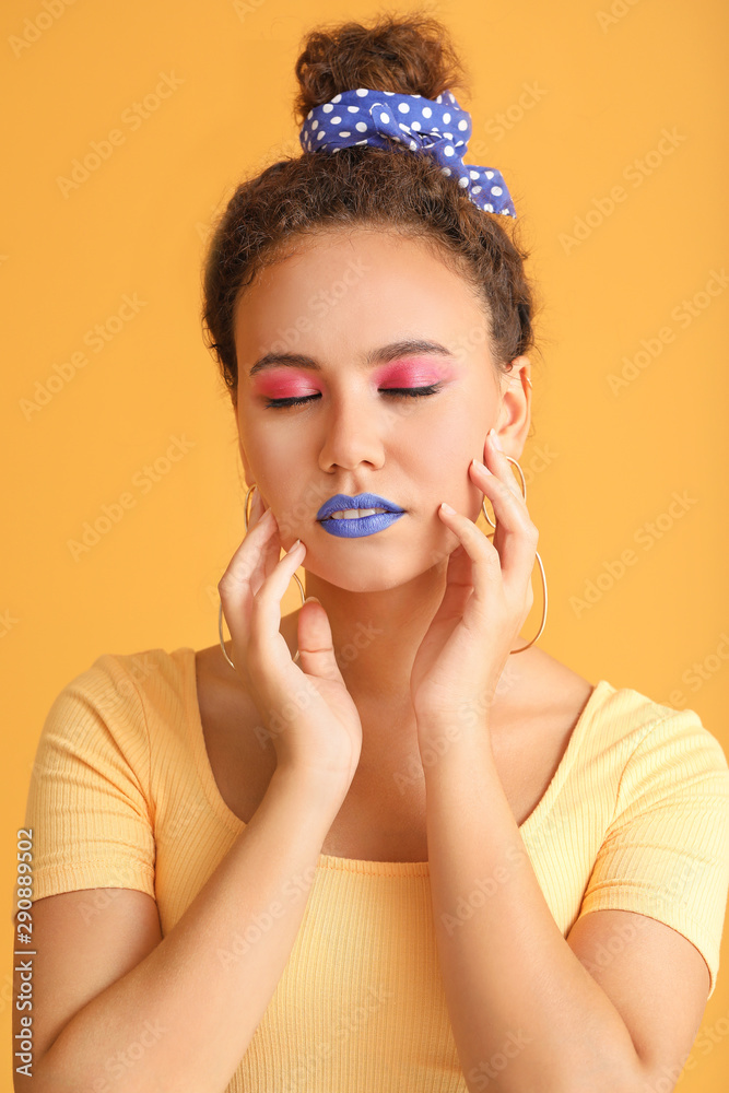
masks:
[[[305,568],[351,591],[392,588],[442,563],[458,539],[438,506],[478,518],[469,463],[502,424],[486,316],[466,282],[419,240],[320,233],[245,290],[235,342],[246,479],[283,546],[301,538]],[[435,392],[387,393],[395,388]],[[404,512],[374,533],[327,531],[322,504],[360,493]]]

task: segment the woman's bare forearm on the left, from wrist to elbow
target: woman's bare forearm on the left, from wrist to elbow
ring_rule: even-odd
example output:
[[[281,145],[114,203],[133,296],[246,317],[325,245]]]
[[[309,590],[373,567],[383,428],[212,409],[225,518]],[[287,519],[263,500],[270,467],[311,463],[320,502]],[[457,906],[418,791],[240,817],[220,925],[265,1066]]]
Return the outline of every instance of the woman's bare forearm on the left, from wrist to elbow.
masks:
[[[174,929],[75,1013],[16,1091],[223,1093],[286,965],[342,799],[277,769]],[[140,1038],[143,1055],[115,1068]]]

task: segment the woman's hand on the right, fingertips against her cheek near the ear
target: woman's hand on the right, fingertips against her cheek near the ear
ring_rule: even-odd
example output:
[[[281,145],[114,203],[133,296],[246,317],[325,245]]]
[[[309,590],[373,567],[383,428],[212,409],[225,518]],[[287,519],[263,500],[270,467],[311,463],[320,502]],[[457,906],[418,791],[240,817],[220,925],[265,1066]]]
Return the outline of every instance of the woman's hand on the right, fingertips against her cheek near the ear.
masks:
[[[460,539],[448,557],[446,590],[410,677],[421,752],[444,730],[486,725],[512,646],[533,603],[531,573],[539,531],[532,524],[506,455],[486,440],[493,473],[475,461],[469,477],[491,501],[493,543],[460,513],[438,516]]]

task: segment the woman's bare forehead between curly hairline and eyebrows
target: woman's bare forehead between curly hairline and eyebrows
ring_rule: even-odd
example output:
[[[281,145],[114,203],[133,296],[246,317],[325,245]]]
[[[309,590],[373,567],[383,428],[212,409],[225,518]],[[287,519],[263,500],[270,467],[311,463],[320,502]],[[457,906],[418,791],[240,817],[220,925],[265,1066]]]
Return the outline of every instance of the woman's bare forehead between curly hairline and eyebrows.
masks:
[[[395,341],[403,334],[454,338],[486,326],[472,285],[430,240],[375,227],[318,232],[287,243],[244,289],[235,339],[245,355],[275,342],[304,346]]]

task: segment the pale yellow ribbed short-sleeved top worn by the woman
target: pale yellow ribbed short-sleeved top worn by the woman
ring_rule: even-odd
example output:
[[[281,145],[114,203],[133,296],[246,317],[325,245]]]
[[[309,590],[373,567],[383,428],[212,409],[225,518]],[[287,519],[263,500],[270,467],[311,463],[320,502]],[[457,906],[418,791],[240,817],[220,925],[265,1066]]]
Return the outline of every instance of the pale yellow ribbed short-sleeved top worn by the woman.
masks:
[[[208,760],[193,649],[105,654],[62,689],[25,826],[35,900],[138,889],[156,900],[163,935],[173,929],[245,827]],[[588,912],[648,915],[693,942],[714,994],[729,766],[696,713],[600,680],[519,831],[565,937]],[[426,861],[320,855],[291,956],[227,1093],[291,1089],[466,1093]]]

